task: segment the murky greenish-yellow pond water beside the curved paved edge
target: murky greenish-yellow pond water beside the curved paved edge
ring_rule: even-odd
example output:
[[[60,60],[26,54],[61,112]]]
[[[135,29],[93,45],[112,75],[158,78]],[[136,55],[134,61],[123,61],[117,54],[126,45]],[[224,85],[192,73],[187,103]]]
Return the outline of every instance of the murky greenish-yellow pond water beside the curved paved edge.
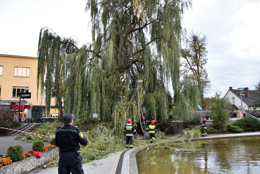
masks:
[[[139,174],[260,173],[260,138],[191,141],[164,147],[136,156]]]

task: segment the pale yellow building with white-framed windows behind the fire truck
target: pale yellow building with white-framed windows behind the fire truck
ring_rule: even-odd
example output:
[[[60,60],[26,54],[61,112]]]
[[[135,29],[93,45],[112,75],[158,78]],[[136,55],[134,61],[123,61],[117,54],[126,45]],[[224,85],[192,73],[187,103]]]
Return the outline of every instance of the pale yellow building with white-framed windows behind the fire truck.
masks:
[[[17,101],[20,99],[20,92],[31,92],[31,98],[26,98],[33,106],[45,108],[45,96],[38,93],[37,100],[37,57],[13,56],[0,54],[0,98],[1,101]],[[21,99],[22,101],[23,99]],[[58,109],[55,109],[55,98],[51,98],[51,117],[58,117]],[[30,109],[25,109],[30,113]],[[45,110],[43,117],[46,116]]]

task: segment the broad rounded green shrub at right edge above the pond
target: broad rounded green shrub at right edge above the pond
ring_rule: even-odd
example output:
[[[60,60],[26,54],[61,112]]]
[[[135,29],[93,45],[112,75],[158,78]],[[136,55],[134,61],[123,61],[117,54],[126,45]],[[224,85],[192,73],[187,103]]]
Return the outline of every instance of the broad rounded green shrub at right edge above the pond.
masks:
[[[254,117],[245,117],[234,121],[231,125],[238,126],[245,132],[260,131],[260,120]]]

